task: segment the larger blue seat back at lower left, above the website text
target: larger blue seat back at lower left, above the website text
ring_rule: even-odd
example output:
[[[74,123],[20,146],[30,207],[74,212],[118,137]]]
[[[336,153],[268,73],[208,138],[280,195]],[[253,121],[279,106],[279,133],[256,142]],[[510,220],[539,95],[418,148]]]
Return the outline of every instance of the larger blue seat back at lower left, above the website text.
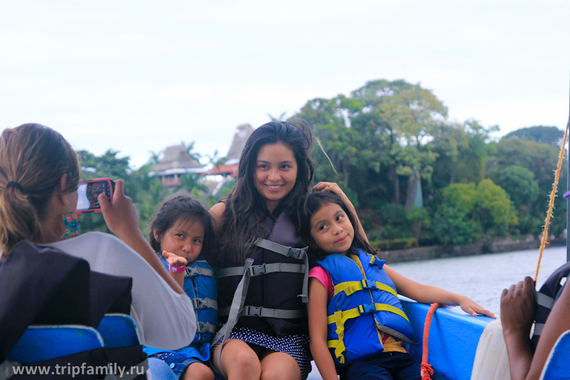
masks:
[[[11,361],[33,363],[103,347],[92,327],[79,325],[30,326],[7,355]]]

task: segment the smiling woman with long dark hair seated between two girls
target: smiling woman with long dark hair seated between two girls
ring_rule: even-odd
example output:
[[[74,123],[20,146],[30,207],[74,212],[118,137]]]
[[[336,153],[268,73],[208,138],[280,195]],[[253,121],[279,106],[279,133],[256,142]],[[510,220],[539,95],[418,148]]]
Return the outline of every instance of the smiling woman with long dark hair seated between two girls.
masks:
[[[224,324],[227,340],[214,342],[212,355],[228,379],[305,379],[311,371],[308,268],[295,215],[314,175],[312,143],[305,122],[261,125],[242,151],[234,190],[210,210],[222,245],[219,319],[237,319],[233,329]],[[241,311],[232,315],[240,297]]]

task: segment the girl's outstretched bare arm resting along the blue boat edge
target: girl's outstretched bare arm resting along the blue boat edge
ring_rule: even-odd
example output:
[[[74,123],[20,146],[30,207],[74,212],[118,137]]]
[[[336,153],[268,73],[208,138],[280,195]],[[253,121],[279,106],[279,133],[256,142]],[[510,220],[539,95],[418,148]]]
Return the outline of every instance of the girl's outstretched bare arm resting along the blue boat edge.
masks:
[[[398,293],[405,297],[414,299],[422,304],[439,302],[440,304],[459,305],[464,312],[471,314],[473,317],[477,314],[484,314],[491,318],[496,318],[492,312],[480,307],[477,302],[474,302],[469,297],[448,292],[447,290],[439,287],[420,284],[420,282],[415,282],[408,277],[399,274],[394,269],[388,267],[388,265],[384,265],[383,268],[385,269],[386,274],[388,274],[390,279],[394,282]]]

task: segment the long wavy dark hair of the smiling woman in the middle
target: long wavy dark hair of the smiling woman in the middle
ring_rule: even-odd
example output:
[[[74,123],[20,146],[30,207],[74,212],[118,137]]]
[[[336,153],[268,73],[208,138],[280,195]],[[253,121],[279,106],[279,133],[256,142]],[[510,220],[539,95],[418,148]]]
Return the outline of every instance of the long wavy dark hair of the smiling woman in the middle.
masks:
[[[297,162],[297,178],[294,187],[274,210],[274,215],[284,207],[296,210],[302,197],[309,191],[313,180],[315,164],[311,156],[313,131],[309,123],[299,120],[299,125],[285,121],[272,121],[254,130],[239,158],[237,183],[226,200],[226,209],[220,225],[222,250],[232,245],[237,260],[245,261],[253,242],[266,238],[269,230],[264,226],[268,212],[263,197],[255,188],[255,168],[259,150],[267,144],[282,143],[290,148]],[[292,212],[291,216],[296,217]],[[298,220],[294,220],[299,225]]]

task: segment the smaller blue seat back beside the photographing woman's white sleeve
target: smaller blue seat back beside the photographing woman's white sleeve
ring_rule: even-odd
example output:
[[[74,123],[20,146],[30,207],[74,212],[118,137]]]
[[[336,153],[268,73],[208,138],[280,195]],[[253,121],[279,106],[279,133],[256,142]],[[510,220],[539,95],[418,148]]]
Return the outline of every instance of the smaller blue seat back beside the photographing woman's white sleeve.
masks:
[[[127,314],[105,314],[97,331],[108,349],[140,344],[135,321]]]

